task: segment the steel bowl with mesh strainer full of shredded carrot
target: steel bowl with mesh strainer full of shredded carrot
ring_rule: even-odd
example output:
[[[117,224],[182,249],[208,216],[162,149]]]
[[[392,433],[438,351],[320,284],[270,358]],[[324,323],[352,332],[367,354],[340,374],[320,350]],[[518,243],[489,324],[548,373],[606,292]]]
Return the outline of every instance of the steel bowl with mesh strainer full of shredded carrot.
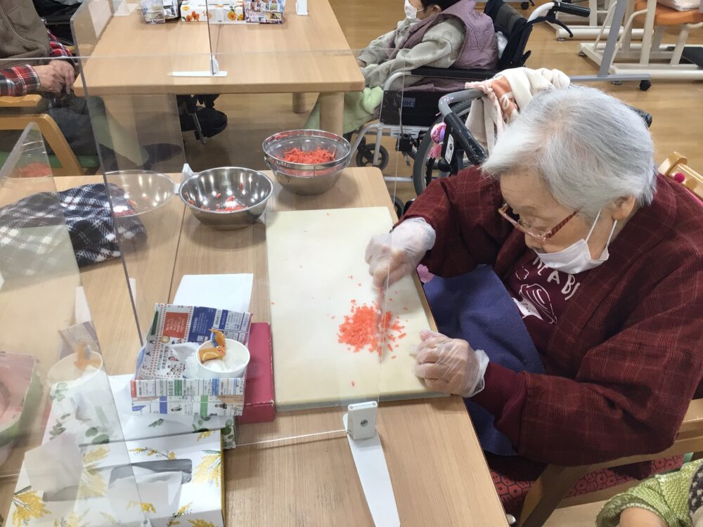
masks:
[[[332,188],[352,159],[349,141],[321,130],[280,132],[267,138],[262,148],[276,181],[286,190],[302,195],[321,194]],[[319,164],[284,161],[285,152],[292,148],[305,151],[324,148],[333,152],[335,160]]]

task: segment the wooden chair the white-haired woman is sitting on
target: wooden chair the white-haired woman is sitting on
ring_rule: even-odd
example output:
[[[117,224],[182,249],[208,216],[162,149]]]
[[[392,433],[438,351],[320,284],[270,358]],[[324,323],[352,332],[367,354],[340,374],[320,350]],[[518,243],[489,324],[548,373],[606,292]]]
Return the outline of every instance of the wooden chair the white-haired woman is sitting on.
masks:
[[[688,167],[686,162],[688,160],[683,155],[673,152],[659,167],[659,172],[664,174],[664,176],[676,179],[697,197],[703,199],[703,176]],[[527,493],[518,525],[520,527],[542,526],[554,509],[607,500],[623,492],[626,488],[639,483],[639,481],[633,480],[624,485],[563,499],[576,481],[593,471],[609,467],[621,467],[622,465],[642,461],[657,460],[673,455],[683,455],[690,452],[703,452],[703,399],[691,401],[688,412],[686,412],[681,423],[681,428],[678,430],[676,440],[670,448],[663,452],[624,457],[619,460],[583,467],[549,465]]]

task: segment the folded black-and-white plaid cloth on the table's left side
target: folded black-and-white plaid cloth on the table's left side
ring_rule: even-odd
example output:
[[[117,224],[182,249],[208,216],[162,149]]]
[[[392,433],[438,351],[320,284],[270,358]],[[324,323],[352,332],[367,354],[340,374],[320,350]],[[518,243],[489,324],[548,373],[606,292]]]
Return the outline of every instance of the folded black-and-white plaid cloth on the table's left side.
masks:
[[[110,195],[114,207],[133,212],[120,188],[110,185]],[[31,276],[65,268],[66,235],[79,267],[117,258],[121,240],[146,240],[138,216],[120,217],[115,228],[103,184],[32,194],[0,208],[0,274]]]

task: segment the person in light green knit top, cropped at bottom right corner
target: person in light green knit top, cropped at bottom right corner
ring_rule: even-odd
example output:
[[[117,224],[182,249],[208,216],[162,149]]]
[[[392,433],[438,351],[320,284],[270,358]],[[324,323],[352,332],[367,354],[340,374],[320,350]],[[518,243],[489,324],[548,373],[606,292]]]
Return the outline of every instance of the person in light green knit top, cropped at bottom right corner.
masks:
[[[686,463],[613,496],[597,527],[703,527],[703,462]]]

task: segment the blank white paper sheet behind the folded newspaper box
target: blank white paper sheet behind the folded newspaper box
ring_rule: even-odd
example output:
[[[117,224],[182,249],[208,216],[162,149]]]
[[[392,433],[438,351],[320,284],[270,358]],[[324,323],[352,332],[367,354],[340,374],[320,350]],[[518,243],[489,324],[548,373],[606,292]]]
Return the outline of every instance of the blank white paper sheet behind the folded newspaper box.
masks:
[[[173,304],[246,313],[252,299],[254,275],[185,275]]]

